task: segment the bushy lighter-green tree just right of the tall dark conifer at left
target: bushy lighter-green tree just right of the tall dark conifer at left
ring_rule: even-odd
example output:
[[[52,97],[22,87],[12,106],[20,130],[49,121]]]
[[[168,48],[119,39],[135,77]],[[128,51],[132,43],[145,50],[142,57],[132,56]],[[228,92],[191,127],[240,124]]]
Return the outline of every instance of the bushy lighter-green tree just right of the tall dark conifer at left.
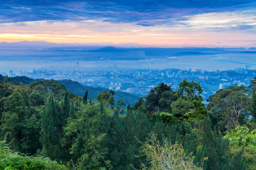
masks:
[[[65,136],[77,136],[71,155],[77,169],[111,168],[108,159],[109,110],[104,104],[82,104],[75,118],[68,119]]]

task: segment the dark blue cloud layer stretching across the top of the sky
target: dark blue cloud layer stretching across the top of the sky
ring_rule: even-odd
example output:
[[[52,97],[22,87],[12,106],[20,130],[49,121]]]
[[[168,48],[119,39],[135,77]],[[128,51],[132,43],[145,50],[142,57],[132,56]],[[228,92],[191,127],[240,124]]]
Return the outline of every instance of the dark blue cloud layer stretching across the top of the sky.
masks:
[[[1,22],[36,20],[84,20],[106,18],[108,22],[138,22],[155,24],[151,20],[174,20],[184,15],[213,11],[230,11],[252,6],[253,0],[195,0],[195,1],[3,1],[0,6]],[[143,21],[144,20],[144,21]],[[145,22],[147,20],[147,23]]]

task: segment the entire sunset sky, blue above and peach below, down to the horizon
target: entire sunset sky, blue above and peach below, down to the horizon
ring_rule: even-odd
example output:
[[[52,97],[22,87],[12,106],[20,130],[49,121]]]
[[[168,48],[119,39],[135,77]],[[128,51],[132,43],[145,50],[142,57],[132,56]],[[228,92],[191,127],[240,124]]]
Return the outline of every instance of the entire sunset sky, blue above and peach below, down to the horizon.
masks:
[[[256,46],[252,0],[0,0],[0,42]]]

